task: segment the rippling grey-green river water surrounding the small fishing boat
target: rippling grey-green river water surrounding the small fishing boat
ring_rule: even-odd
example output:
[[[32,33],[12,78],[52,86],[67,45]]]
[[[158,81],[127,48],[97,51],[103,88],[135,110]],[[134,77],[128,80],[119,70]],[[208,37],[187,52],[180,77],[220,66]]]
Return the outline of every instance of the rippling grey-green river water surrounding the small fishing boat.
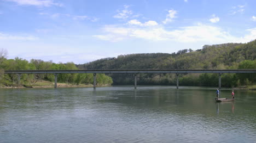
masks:
[[[0,142],[255,142],[256,91],[215,97],[185,86],[0,89]]]

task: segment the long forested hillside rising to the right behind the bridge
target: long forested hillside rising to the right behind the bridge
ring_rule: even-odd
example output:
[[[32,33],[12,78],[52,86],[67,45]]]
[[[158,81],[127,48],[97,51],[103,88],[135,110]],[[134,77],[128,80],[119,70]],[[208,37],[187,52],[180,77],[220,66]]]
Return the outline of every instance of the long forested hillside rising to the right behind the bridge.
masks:
[[[193,51],[119,55],[77,65],[79,69],[256,69],[256,40],[205,45]],[[132,74],[110,74],[114,84],[133,84]],[[218,74],[181,74],[181,85],[218,86]],[[222,86],[255,84],[255,74],[223,74]],[[139,74],[141,85],[174,85],[174,74]]]

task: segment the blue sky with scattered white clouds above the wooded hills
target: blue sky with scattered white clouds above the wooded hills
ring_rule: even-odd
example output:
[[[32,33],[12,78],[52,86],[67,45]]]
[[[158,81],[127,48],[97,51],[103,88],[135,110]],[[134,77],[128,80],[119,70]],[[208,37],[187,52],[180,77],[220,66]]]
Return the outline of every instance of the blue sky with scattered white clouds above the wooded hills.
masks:
[[[0,0],[8,59],[84,64],[256,39],[255,0]]]

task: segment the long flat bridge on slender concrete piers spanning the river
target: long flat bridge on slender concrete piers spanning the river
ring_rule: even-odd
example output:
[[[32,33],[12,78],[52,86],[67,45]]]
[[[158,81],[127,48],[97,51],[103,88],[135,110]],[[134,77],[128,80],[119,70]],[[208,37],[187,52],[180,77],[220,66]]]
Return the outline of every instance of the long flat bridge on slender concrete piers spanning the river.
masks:
[[[8,70],[4,71],[5,74],[18,74],[18,84],[20,85],[20,77],[22,73],[51,73],[55,76],[54,88],[57,88],[57,74],[59,73],[94,73],[94,88],[96,88],[96,74],[97,73],[133,73],[135,76],[135,89],[137,88],[137,74],[138,73],[175,73],[176,86],[179,88],[179,74],[181,73],[218,73],[219,74],[219,88],[221,88],[222,73],[256,73],[253,70]]]

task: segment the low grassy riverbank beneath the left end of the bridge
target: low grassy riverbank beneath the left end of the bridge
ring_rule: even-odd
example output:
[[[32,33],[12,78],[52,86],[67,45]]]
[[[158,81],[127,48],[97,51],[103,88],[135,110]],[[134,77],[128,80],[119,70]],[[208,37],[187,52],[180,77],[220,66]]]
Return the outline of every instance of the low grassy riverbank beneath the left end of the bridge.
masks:
[[[92,84],[70,84],[70,83],[57,83],[57,88],[88,88],[93,87]],[[97,85],[100,87],[110,86],[109,84]],[[39,80],[33,84],[22,84],[20,86],[2,86],[4,89],[15,89],[15,88],[54,88],[54,83],[45,80]]]

